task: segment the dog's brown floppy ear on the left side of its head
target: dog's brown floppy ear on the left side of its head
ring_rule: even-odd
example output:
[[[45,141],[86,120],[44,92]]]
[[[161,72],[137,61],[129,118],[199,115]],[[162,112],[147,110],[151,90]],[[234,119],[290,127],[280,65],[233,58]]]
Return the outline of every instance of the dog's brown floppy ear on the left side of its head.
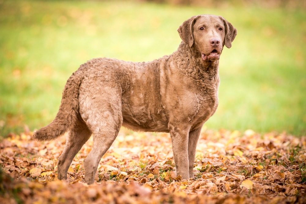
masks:
[[[182,25],[180,25],[180,27],[177,29],[181,39],[187,43],[189,47],[192,47],[193,45],[193,26],[196,23],[196,19],[199,17],[200,16],[193,16],[189,18],[188,20],[184,21]]]

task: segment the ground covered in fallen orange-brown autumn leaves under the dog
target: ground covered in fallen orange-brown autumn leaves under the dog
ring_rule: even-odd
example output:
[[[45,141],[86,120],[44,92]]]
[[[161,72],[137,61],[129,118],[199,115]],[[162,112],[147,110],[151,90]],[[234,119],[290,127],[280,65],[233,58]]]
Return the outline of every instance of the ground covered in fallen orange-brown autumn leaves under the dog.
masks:
[[[67,181],[57,179],[65,136],[37,142],[32,133],[0,143],[0,203],[304,203],[306,137],[203,130],[194,179],[176,176],[164,133],[121,130],[102,157],[96,182],[84,183],[90,139]]]

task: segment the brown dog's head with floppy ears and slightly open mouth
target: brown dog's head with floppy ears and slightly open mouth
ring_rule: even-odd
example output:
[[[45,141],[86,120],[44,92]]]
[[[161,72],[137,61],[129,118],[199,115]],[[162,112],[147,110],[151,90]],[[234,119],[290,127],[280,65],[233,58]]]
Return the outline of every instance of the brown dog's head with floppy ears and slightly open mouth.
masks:
[[[232,47],[236,28],[221,16],[198,15],[189,18],[177,29],[181,39],[195,47],[204,61],[220,58],[224,45]]]

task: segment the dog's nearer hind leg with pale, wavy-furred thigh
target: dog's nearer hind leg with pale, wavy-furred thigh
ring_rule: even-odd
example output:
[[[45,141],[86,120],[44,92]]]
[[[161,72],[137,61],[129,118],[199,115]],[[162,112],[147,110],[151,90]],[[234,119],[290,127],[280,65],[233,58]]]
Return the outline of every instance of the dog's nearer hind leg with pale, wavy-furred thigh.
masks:
[[[84,93],[81,101],[82,118],[93,133],[93,146],[84,161],[85,182],[92,184],[101,157],[114,142],[122,125],[121,88],[95,86],[91,93]]]

